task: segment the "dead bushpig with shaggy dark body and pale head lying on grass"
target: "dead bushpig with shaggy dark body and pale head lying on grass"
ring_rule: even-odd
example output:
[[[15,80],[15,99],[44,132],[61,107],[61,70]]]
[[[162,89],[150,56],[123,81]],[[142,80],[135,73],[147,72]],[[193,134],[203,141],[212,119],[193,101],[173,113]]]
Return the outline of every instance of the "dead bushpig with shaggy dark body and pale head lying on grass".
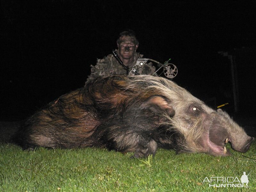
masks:
[[[246,152],[254,138],[174,82],[140,75],[99,77],[60,96],[28,118],[13,140],[24,149],[100,147],[139,158],[157,148],[228,156],[227,142]]]

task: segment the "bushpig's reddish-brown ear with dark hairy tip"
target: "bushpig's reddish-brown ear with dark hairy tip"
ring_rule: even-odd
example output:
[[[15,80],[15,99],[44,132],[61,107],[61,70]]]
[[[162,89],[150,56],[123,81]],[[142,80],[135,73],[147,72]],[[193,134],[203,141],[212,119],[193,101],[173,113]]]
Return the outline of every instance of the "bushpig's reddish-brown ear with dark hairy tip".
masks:
[[[166,112],[169,116],[174,116],[175,111],[173,110],[171,103],[169,103],[162,96],[153,96],[145,103],[142,104],[142,107],[148,108],[156,114]]]

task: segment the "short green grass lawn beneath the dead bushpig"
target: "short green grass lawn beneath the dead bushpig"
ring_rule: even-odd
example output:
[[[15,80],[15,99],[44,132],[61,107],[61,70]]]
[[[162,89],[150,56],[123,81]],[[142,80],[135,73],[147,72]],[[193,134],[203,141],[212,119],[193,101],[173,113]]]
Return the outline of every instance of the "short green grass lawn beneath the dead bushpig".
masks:
[[[0,144],[0,191],[256,191],[255,149],[255,143],[246,154],[231,149],[230,157],[175,155],[173,150],[158,149],[153,159],[142,162],[130,159],[132,153],[105,149],[23,151]],[[250,188],[203,183],[214,176],[240,179],[244,171],[252,171]]]

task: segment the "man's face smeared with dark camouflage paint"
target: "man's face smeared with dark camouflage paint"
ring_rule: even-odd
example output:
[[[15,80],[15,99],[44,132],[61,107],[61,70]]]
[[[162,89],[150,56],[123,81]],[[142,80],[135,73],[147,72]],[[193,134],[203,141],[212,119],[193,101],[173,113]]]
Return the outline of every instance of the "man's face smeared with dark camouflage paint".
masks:
[[[117,43],[119,55],[123,59],[131,59],[137,50],[139,44],[136,44],[136,41],[133,37],[122,36],[119,38],[119,43]]]

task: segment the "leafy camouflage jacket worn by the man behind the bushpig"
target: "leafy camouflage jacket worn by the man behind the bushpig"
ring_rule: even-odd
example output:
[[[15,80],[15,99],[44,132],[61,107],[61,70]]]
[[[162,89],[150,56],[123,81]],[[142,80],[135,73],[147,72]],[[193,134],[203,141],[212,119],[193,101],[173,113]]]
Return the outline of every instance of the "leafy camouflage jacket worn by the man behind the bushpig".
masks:
[[[142,58],[143,55],[135,52],[134,53],[134,61],[131,66],[129,66],[129,71],[131,71],[132,67],[136,64],[138,58]],[[138,73],[141,75],[153,75],[155,73],[156,68],[152,65],[152,63],[146,63],[142,67],[137,69]],[[97,64],[95,66],[91,65],[91,75],[88,76],[88,80],[94,79],[98,76],[109,76],[109,75],[125,75],[126,70],[123,66],[118,63],[116,58],[109,54],[103,59],[98,59]],[[155,75],[154,75],[155,76]]]

